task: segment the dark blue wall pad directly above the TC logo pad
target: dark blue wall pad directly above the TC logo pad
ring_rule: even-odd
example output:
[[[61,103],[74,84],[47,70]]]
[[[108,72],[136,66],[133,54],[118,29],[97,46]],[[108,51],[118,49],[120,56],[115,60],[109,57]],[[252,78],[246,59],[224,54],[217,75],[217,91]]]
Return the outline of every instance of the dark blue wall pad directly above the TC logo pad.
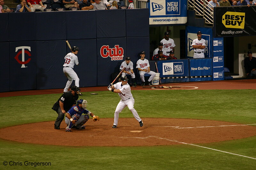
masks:
[[[36,40],[36,12],[9,13],[9,33],[10,41]]]

